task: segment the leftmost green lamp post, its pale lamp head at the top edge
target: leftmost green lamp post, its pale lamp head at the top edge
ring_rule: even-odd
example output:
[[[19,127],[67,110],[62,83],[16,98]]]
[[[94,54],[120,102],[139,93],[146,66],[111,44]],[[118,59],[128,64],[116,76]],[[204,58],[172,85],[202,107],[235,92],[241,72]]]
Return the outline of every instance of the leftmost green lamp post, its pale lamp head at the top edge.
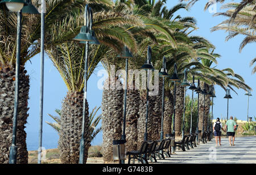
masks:
[[[9,164],[16,164],[17,146],[16,132],[18,119],[18,104],[19,104],[19,70],[20,70],[20,42],[21,42],[21,27],[22,27],[22,8],[27,5],[27,2],[22,0],[3,0],[0,3],[5,3],[6,7],[17,12],[17,38],[16,38],[16,65],[15,65],[15,92],[14,92],[14,115],[13,115],[13,136],[10,147]]]

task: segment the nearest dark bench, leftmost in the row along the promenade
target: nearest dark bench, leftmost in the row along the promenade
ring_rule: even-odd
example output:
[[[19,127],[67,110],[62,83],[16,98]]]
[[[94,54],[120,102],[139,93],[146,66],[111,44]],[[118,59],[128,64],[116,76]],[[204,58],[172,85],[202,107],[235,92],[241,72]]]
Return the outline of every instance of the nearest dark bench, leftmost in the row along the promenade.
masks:
[[[148,142],[144,141],[142,143],[141,149],[140,150],[134,150],[134,151],[127,151],[126,155],[128,156],[128,164],[130,164],[131,159],[133,159],[133,164],[135,163],[135,159],[140,161],[142,164],[146,163],[148,164],[147,161],[147,147],[148,147]]]

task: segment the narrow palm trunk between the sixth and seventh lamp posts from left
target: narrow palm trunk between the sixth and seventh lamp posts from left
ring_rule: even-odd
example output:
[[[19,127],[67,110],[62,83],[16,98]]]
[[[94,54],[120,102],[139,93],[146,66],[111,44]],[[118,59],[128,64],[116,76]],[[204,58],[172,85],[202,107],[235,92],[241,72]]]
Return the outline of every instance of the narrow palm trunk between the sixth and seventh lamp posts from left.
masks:
[[[176,110],[175,110],[175,134],[181,135],[181,126],[183,123],[184,109],[184,87],[177,84],[176,86]]]

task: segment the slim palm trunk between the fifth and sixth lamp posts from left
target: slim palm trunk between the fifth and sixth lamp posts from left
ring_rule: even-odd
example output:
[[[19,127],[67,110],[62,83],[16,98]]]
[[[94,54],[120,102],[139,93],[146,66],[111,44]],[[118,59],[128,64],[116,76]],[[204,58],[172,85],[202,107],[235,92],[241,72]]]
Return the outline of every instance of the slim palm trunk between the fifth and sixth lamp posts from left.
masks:
[[[170,89],[164,92],[166,98],[164,102],[164,135],[172,133],[172,114],[174,113],[174,96]]]

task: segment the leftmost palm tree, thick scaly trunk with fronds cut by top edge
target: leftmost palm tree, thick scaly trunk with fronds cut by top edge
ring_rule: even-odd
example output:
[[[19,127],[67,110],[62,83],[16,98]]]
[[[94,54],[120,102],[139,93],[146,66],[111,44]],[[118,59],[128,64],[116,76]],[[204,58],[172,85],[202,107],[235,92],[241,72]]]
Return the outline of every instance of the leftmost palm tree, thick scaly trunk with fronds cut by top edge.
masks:
[[[36,1],[32,1],[34,3]],[[60,43],[65,40],[70,40],[77,33],[69,32],[67,35],[52,37],[51,29],[55,23],[67,16],[71,11],[81,8],[86,3],[99,3],[105,6],[112,6],[111,2],[104,0],[93,1],[47,1],[46,2],[46,17],[45,17],[45,33],[46,33],[46,48]],[[39,7],[38,4],[34,5]],[[9,147],[11,144],[11,135],[13,127],[13,110],[14,110],[14,74],[15,74],[15,55],[16,55],[16,14],[7,10],[6,6],[0,6],[0,87],[1,87],[1,105],[0,118],[1,140],[6,142],[0,143],[0,163],[8,163]],[[17,163],[28,163],[28,152],[26,145],[26,132],[24,126],[27,123],[28,117],[28,92],[29,92],[29,76],[24,68],[25,63],[40,52],[40,15],[23,16],[22,31],[21,31],[21,48],[20,48],[20,84],[19,84],[19,113],[18,113],[18,131],[16,137],[16,145],[18,146]]]

